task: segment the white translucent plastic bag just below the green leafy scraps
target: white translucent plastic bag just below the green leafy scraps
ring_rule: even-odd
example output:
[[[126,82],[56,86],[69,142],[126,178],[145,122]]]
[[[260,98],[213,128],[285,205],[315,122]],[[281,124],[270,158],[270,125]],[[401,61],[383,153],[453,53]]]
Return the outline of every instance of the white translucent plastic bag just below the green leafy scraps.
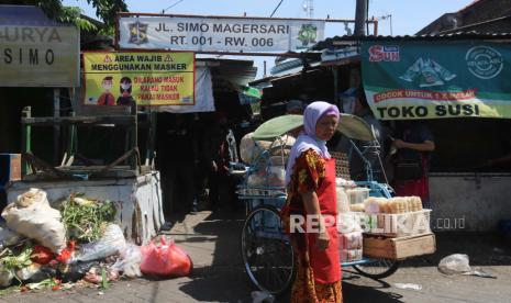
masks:
[[[101,260],[118,255],[124,249],[126,249],[126,240],[124,239],[121,227],[116,224],[110,224],[99,240],[82,245],[70,263]]]

